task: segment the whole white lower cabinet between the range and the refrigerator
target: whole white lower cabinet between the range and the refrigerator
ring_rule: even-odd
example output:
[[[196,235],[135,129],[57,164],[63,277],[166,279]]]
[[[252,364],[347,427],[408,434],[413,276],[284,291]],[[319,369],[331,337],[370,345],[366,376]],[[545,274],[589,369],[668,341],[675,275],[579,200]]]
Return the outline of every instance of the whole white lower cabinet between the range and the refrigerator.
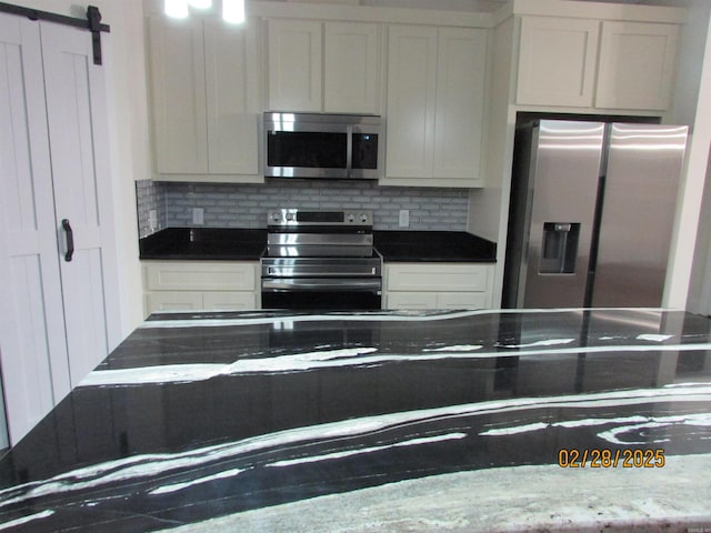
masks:
[[[385,309],[487,309],[493,265],[479,263],[385,264]]]

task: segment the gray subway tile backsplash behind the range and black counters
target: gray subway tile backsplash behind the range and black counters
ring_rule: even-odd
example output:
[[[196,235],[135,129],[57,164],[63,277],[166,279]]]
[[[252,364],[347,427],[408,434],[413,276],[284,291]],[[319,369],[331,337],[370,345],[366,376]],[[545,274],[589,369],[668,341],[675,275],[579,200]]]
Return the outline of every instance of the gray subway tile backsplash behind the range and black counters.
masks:
[[[399,229],[401,209],[410,211],[410,230],[464,231],[467,189],[379,187],[374,182],[273,180],[263,185],[137,182],[141,237],[150,234],[149,211],[159,228],[192,225],[192,208],[204,209],[204,225],[264,228],[273,208],[371,209],[375,230]]]

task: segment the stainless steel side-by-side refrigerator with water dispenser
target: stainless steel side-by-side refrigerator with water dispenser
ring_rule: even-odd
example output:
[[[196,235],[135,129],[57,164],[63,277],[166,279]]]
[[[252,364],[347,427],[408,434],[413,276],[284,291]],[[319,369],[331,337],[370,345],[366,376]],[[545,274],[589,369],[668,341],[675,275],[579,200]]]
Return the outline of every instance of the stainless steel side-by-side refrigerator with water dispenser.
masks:
[[[661,304],[687,127],[517,129],[504,308]]]

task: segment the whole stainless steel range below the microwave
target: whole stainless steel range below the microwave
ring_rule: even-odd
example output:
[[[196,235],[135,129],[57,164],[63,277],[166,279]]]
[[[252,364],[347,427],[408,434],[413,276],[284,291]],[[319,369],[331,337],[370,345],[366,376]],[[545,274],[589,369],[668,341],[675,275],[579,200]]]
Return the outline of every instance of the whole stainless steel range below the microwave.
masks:
[[[382,258],[372,211],[276,209],[267,214],[262,308],[381,308]]]

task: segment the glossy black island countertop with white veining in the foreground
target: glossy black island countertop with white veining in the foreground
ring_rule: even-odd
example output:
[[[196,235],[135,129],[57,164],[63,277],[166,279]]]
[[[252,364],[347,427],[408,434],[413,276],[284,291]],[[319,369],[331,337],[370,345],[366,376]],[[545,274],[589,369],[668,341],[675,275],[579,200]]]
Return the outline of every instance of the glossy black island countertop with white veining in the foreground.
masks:
[[[703,531],[710,350],[649,309],[156,314],[0,460],[0,529]]]

